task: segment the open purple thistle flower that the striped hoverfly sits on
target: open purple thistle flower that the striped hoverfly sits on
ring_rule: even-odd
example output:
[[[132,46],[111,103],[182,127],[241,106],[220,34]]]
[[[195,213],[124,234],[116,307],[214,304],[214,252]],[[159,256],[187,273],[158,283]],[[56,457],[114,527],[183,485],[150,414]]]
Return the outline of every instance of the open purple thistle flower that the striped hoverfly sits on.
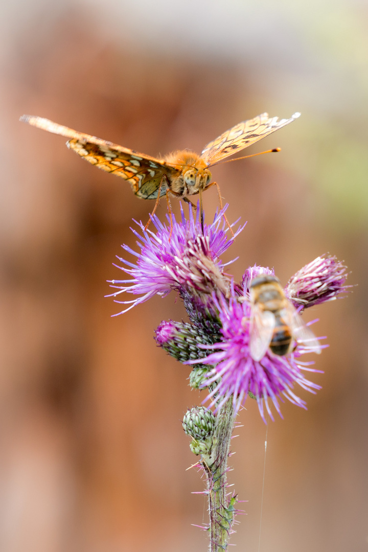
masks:
[[[202,387],[212,384],[212,391],[206,397],[211,399],[211,405],[216,405],[216,410],[233,395],[234,410],[237,412],[247,398],[248,392],[257,399],[260,415],[265,421],[265,410],[268,411],[271,420],[273,415],[268,400],[275,405],[280,412],[278,399],[282,396],[290,402],[302,408],[306,403],[298,397],[293,389],[294,384],[303,389],[315,392],[321,386],[307,380],[302,370],[319,371],[308,368],[313,362],[301,362],[302,354],[311,352],[311,348],[297,344],[294,352],[285,356],[273,354],[270,350],[258,362],[250,355],[249,350],[249,325],[250,304],[248,301],[239,303],[235,298],[228,302],[225,299],[216,301],[222,323],[223,340],[214,345],[201,346],[204,349],[215,349],[206,358],[198,361],[189,361],[188,364],[214,365]],[[282,417],[282,416],[281,416]]]

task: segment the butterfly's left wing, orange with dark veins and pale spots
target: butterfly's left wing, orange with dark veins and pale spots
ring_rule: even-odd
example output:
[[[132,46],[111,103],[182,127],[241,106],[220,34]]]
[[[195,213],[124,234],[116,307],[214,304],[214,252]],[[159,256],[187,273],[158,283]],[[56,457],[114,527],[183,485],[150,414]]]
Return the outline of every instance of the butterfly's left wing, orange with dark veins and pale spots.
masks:
[[[124,178],[139,198],[156,199],[163,175],[166,174],[169,181],[170,177],[178,175],[178,169],[155,157],[138,153],[96,136],[83,134],[67,126],[53,123],[49,119],[23,115],[20,120],[39,129],[69,138],[67,146],[71,150],[103,171]],[[163,179],[160,197],[165,195],[166,190],[167,181]]]

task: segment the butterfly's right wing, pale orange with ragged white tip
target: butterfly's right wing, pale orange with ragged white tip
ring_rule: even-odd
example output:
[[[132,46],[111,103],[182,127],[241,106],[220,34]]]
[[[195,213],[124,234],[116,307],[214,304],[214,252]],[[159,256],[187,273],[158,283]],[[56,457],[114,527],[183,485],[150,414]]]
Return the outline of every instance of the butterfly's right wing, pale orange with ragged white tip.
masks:
[[[290,119],[279,121],[278,117],[269,117],[268,113],[262,113],[254,119],[242,121],[207,144],[201,157],[210,167],[224,157],[243,150],[244,147],[251,146],[275,130],[281,129],[282,126],[292,123],[299,116],[300,113],[294,113]]]

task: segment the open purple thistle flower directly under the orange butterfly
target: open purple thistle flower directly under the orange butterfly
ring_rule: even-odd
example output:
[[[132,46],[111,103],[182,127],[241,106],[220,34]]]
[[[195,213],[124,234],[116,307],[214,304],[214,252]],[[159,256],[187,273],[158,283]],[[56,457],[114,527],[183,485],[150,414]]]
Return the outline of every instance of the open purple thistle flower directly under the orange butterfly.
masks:
[[[203,232],[199,209],[194,217],[193,210],[190,208],[189,219],[185,220],[183,206],[181,206],[182,220],[177,222],[173,216],[172,228],[170,224],[162,224],[156,215],[152,217],[156,233],[145,230],[142,222],[137,223],[142,235],[133,229],[132,232],[138,238],[137,245],[141,251],[137,253],[126,245],[122,246],[125,251],[137,257],[136,264],[118,257],[125,265],[118,268],[131,275],[132,279],[110,280],[113,284],[111,287],[119,289],[111,294],[114,297],[124,291],[141,295],[132,301],[116,300],[122,304],[131,304],[122,312],[147,301],[154,295],[166,296],[171,290],[179,291],[182,296],[189,293],[211,297],[214,290],[227,295],[230,278],[223,272],[226,264],[221,262],[220,256],[245,225],[239,227],[234,236],[228,237],[228,229],[222,216],[225,209],[216,213],[212,224],[204,225]]]

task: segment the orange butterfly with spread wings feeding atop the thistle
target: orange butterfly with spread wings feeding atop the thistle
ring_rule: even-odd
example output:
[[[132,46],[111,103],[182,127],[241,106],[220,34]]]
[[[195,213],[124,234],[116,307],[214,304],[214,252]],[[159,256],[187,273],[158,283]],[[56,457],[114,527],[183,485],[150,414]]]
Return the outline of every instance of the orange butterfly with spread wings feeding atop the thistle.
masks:
[[[290,119],[279,121],[278,117],[269,117],[268,113],[262,113],[254,119],[242,121],[223,132],[207,144],[200,155],[193,151],[182,150],[169,153],[161,159],[78,132],[42,117],[23,115],[20,120],[39,129],[67,137],[69,140],[66,145],[71,150],[103,171],[124,178],[130,183],[138,198],[156,199],[152,214],[156,211],[158,200],[163,195],[166,195],[169,206],[169,194],[182,198],[188,203],[191,203],[188,196],[200,194],[202,219],[201,194],[210,186],[217,185],[216,182],[211,182],[210,167],[292,123],[299,116],[300,113],[294,113]],[[270,151],[279,151],[279,148]],[[222,208],[218,185],[217,190]]]

